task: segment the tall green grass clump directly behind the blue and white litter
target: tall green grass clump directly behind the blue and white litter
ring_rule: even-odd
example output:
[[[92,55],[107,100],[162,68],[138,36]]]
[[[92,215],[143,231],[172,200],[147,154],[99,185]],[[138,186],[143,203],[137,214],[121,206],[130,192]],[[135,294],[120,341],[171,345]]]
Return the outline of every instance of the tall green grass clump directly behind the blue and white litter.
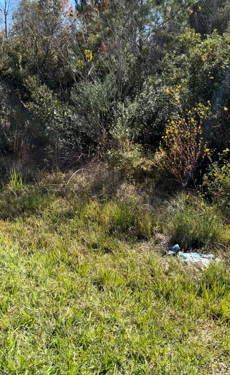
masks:
[[[230,244],[229,228],[220,212],[202,198],[182,193],[166,211],[170,241],[179,243],[182,249],[226,249]]]

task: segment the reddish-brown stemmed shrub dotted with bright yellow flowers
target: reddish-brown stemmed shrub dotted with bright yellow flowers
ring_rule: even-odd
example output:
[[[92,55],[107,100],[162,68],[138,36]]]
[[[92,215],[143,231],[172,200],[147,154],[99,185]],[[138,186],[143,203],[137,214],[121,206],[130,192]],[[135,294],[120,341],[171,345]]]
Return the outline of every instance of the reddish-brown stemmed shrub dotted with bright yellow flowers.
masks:
[[[196,165],[202,150],[202,124],[210,113],[210,101],[199,103],[185,112],[180,103],[180,89],[166,90],[177,102],[179,115],[167,120],[166,130],[156,153],[158,165],[186,183],[192,168]]]

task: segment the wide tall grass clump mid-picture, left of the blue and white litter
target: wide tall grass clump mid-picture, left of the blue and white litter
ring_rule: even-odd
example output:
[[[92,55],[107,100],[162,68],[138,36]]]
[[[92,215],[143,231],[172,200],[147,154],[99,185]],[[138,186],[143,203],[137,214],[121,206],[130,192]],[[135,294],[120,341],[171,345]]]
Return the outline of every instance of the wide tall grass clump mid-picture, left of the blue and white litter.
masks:
[[[58,211],[50,212],[48,216],[52,217],[52,228],[57,227],[59,221],[57,230],[66,230],[63,226],[63,217]],[[122,202],[114,199],[104,203],[92,200],[75,206],[72,217],[69,218],[68,230],[72,236],[90,244],[90,247],[104,249],[113,239],[149,239],[154,232],[154,219],[150,208],[143,208],[132,201]]]

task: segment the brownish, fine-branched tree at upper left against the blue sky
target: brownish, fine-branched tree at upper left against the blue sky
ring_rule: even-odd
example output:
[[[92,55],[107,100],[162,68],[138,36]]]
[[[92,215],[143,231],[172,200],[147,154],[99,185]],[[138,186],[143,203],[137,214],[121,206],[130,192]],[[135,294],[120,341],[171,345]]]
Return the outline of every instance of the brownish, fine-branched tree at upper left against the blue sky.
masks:
[[[12,38],[20,46],[21,72],[57,87],[65,74],[61,54],[68,37],[63,0],[22,0],[13,14]],[[16,49],[16,48],[15,48]],[[27,75],[25,74],[25,75]]]

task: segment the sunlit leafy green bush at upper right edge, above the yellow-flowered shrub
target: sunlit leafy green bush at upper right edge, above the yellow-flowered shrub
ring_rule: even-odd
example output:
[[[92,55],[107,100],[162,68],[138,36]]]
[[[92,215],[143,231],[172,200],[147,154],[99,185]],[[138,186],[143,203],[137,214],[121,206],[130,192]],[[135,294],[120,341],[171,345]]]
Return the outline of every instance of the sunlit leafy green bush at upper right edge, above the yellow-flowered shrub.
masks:
[[[182,84],[186,88],[183,104],[187,107],[208,99],[214,110],[223,106],[228,92],[229,34],[214,31],[202,40],[200,34],[187,29],[179,39],[179,50],[167,53],[163,59],[162,81],[168,87]]]

